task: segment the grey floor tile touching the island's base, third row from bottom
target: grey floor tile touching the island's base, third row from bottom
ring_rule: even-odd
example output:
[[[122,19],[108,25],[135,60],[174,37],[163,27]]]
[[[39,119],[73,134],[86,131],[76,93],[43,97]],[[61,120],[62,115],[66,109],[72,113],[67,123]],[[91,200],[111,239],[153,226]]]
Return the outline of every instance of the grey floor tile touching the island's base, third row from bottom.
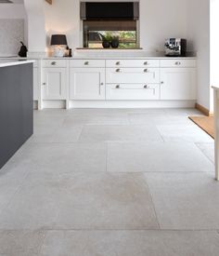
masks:
[[[106,170],[107,145],[77,143],[29,143],[16,164],[30,171],[96,172]],[[23,162],[23,159],[27,159]]]

